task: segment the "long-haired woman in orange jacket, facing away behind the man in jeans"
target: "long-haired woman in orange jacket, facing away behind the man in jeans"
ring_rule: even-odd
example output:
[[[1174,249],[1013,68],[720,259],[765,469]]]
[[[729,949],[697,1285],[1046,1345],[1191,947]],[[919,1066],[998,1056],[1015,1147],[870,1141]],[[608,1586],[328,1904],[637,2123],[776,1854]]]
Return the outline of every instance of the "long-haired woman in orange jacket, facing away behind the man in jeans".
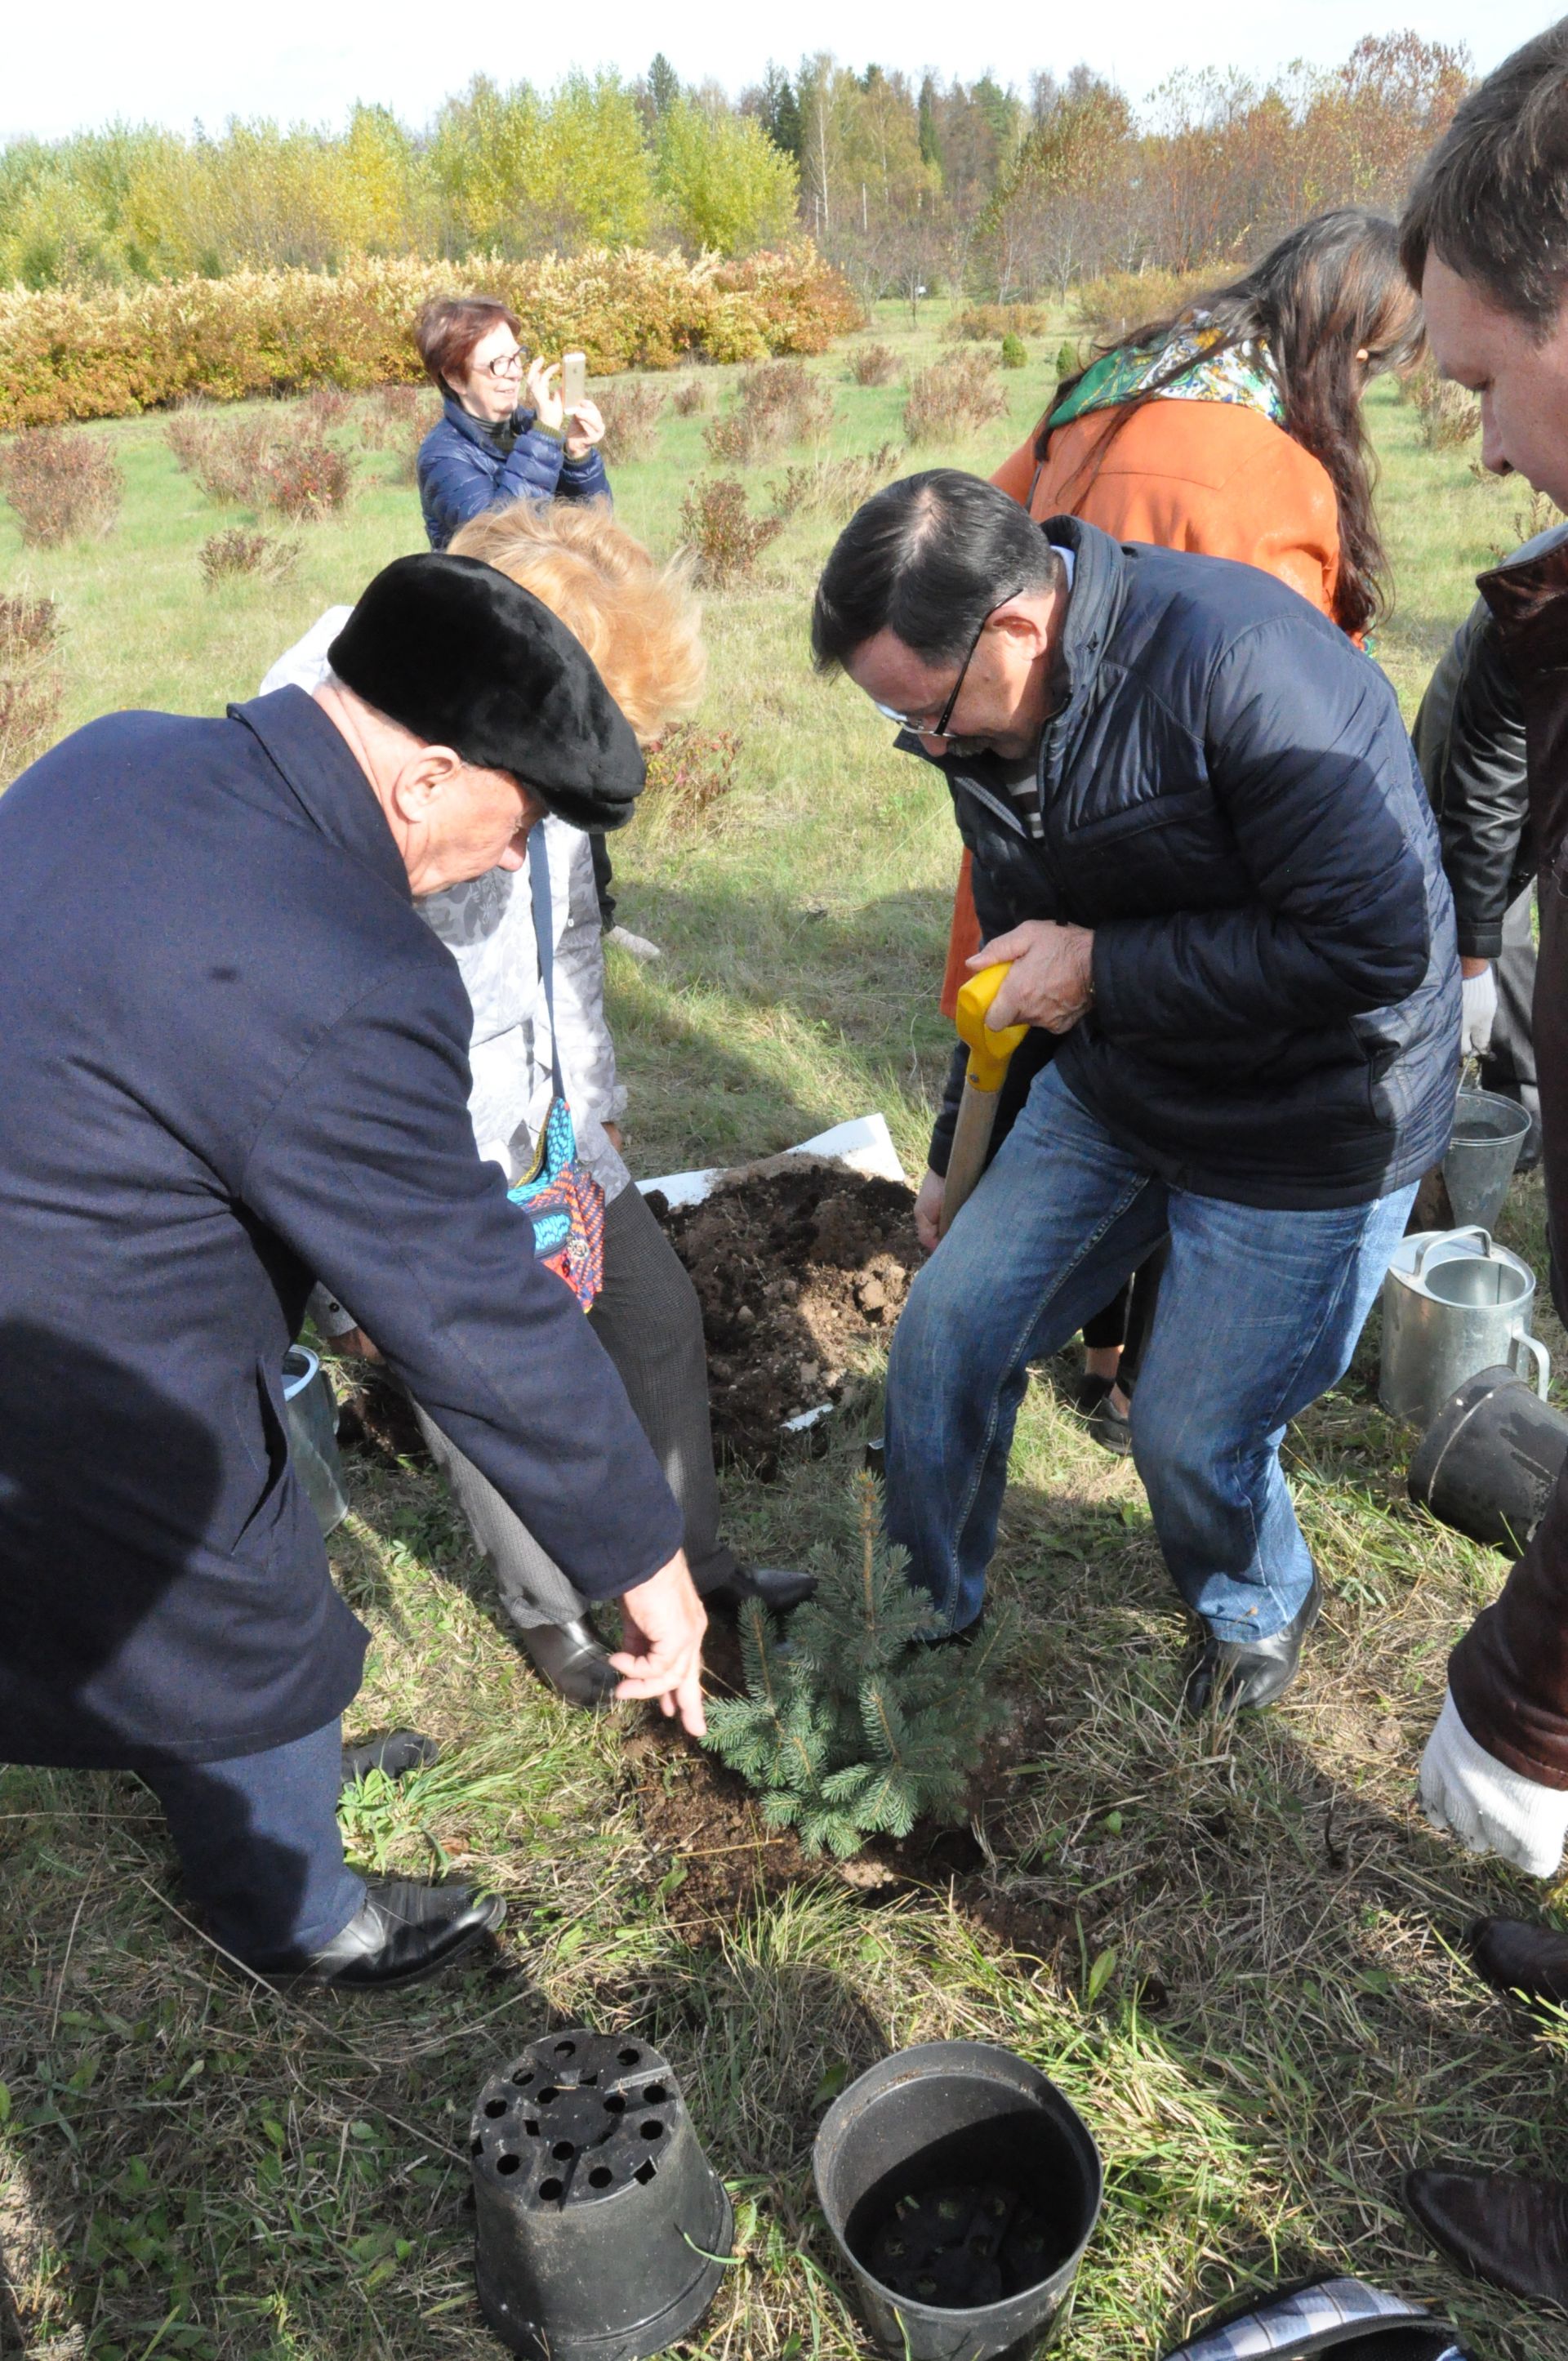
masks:
[[[1367,382],[1410,366],[1422,316],[1393,222],[1320,212],[1244,279],[1150,321],[1056,387],[1051,408],[992,482],[1032,517],[1084,517],[1117,541],[1261,567],[1363,640],[1386,602],[1360,418]],[[942,1013],[954,1013],[980,926],[959,869]],[[1008,1098],[1044,1062],[1013,1060]],[[1044,1036],[1044,1055],[1051,1041]],[[1015,1112],[1004,1105],[1004,1114]],[[1001,1145],[1004,1124],[997,1126]],[[1129,1450],[1117,1367],[1126,1291],[1084,1329],[1077,1407],[1110,1450]]]

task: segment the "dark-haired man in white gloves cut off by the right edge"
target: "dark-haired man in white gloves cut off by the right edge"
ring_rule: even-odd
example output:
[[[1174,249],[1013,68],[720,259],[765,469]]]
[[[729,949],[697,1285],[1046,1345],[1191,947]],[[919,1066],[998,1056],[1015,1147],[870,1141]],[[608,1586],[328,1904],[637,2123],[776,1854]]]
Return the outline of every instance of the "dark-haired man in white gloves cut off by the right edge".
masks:
[[[1568,19],[1481,83],[1426,158],[1400,253],[1445,378],[1481,399],[1481,458],[1568,505]],[[1540,885],[1535,1074],[1559,1313],[1568,1310],[1568,538],[1481,576],[1523,720]],[[1476,1853],[1556,1877],[1568,1832],[1568,1478],[1495,1605],[1448,1660],[1422,1804]],[[1481,1919],[1476,1967],[1568,2002],[1568,1938]],[[1410,2205],[1459,2264],[1568,2307],[1568,2182],[1412,2172]]]

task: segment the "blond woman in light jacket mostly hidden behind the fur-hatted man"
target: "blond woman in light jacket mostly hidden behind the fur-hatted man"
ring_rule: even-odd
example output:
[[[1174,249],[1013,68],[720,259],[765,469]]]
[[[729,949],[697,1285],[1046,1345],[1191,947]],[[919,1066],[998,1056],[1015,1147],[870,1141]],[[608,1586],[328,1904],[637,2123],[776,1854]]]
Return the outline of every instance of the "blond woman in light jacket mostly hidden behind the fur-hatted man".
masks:
[[[458,531],[451,555],[484,560],[550,607],[583,642],[642,744],[694,708],[704,649],[687,581],[678,567],[656,567],[602,508],[541,501],[491,508]],[[326,649],[347,614],[347,607],[328,609],[274,663],[262,692],[319,687],[328,675]],[[548,871],[538,881],[531,876],[536,848]],[[536,895],[550,911],[548,944],[534,918]],[[524,869],[491,869],[468,885],[425,895],[416,909],[456,959],[472,1006],[468,1112],[479,1155],[501,1164],[508,1183],[527,1180],[553,1103],[564,1096],[569,1105],[576,1159],[605,1197],[602,1280],[588,1317],[680,1504],[692,1582],[718,1605],[741,1598],[796,1605],[810,1596],[808,1575],[744,1570],[718,1532],[701,1308],[621,1159],[626,1093],[605,1022],[605,949],[588,836],[550,815],[529,836]],[[522,1223],[520,1235],[527,1240]],[[338,1350],[375,1350],[352,1306],[319,1289],[312,1315]],[[607,1702],[616,1672],[583,1601],[479,1469],[418,1402],[416,1412],[536,1669],[574,1705]]]

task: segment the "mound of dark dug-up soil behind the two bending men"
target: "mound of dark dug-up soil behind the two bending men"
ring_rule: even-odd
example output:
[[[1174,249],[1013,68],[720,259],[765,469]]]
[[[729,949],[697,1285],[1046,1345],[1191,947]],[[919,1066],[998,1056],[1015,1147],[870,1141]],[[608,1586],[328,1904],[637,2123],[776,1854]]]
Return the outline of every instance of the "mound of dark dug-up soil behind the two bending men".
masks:
[[[649,1204],[701,1303],[713,1435],[765,1473],[784,1421],[836,1402],[855,1348],[893,1329],[923,1261],[914,1192],[791,1157],[704,1204]]]

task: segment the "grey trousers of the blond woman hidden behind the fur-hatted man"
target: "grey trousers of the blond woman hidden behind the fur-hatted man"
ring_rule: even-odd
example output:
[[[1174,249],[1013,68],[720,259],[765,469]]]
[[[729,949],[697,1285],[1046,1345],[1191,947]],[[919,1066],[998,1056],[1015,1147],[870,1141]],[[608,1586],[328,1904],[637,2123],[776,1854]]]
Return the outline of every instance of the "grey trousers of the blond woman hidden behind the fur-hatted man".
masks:
[[[635,1188],[605,1206],[605,1287],[588,1322],[614,1360],[642,1433],[654,1445],[680,1513],[685,1554],[699,1591],[727,1582],[734,1556],[718,1539],[718,1476],[708,1424],[708,1353],[697,1289]],[[418,1405],[416,1405],[418,1410]],[[555,1558],[508,1509],[489,1476],[418,1410],[420,1431],[496,1568],[501,1603],[515,1624],[567,1624],[588,1613]]]

